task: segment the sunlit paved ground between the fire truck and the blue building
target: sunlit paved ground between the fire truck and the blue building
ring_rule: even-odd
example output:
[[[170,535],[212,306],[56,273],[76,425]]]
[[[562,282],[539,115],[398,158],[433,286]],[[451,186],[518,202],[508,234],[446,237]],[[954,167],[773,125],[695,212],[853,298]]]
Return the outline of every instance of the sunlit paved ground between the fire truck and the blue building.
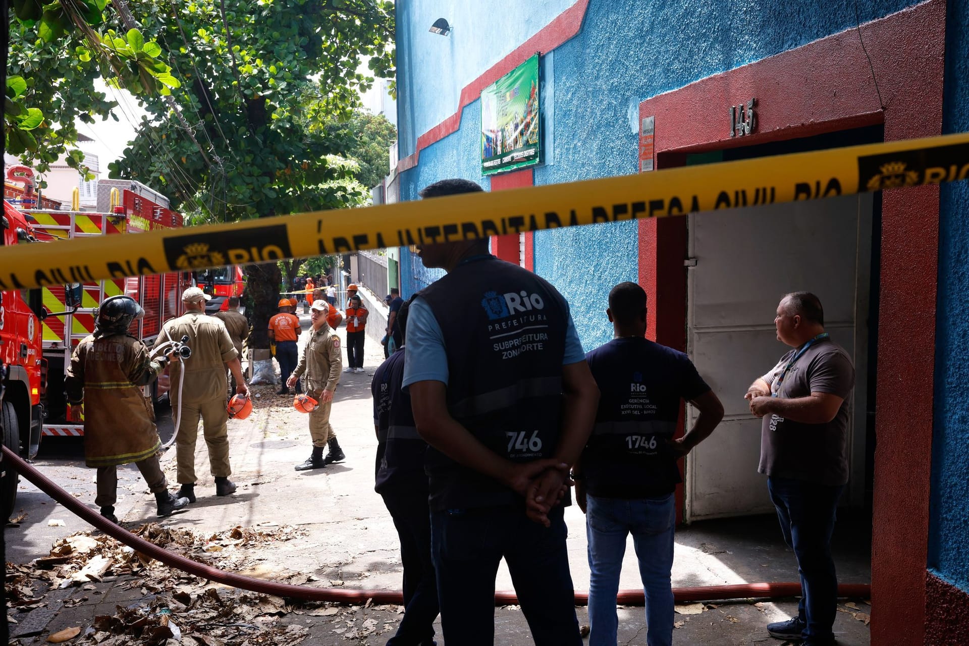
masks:
[[[344,330],[341,328],[339,333],[343,336]],[[396,534],[381,498],[373,492],[376,439],[369,386],[383,355],[380,346],[370,339],[367,339],[366,352],[366,374],[343,374],[332,408],[331,420],[347,454],[345,462],[324,470],[295,472],[293,466],[305,459],[310,450],[306,416],[293,409],[292,398],[274,394],[278,386],[256,385],[253,386],[253,415],[244,421],[230,422],[232,478],[238,484],[234,496],[215,497],[212,477],[208,475],[207,454],[200,439],[198,502],[183,513],[157,519],[154,499],[138,472],[133,468],[122,469],[116,512],[123,524],[134,529],[141,523],[157,521],[163,527],[187,527],[212,534],[235,526],[293,526],[300,530],[296,538],[267,541],[255,553],[239,555],[234,563],[242,573],[259,578],[300,583],[307,581],[308,576],[309,583],[316,586],[399,589],[400,558]],[[160,431],[164,438],[170,437],[172,421],[168,411],[161,417]],[[163,458],[163,466],[172,484],[173,458],[173,451]],[[94,471],[83,467],[78,440],[45,439],[36,464],[48,477],[93,507]],[[91,529],[24,480],[20,482],[16,505],[17,510],[21,508],[25,517],[20,526],[6,530],[7,560],[14,563],[25,564],[45,556],[53,540]],[[15,511],[15,516],[17,513]],[[61,520],[64,526],[48,526],[48,521],[52,520]],[[578,590],[587,590],[584,517],[577,507],[572,507],[566,511],[566,520],[575,585]],[[839,575],[843,582],[868,580],[870,540],[863,528],[863,519],[860,523],[847,519],[836,534]],[[780,542],[780,533],[772,517],[708,521],[677,535],[674,587],[791,580],[797,580],[794,556]],[[72,625],[83,624],[85,615],[81,609],[91,603],[104,602],[107,605],[97,611],[91,609],[86,615],[88,622],[94,614],[112,612],[113,601],[109,602],[107,597],[109,584],[98,585],[106,587],[105,591],[99,591],[98,594],[103,595],[100,599],[92,593],[91,599],[84,604],[70,608],[70,616],[65,616],[64,621],[53,616],[48,620],[49,630],[38,638],[48,631],[63,628],[68,619],[75,621]],[[511,587],[508,571],[503,566],[497,588],[508,590]],[[631,544],[627,549],[620,587],[640,587]],[[129,602],[140,598],[137,588],[128,591],[126,597]],[[861,600],[856,603],[858,608],[842,606],[845,611],[838,613],[835,631],[843,646],[868,643],[868,629],[862,620],[870,613],[870,607]],[[682,644],[779,644],[781,642],[774,642],[767,636],[763,626],[769,621],[786,618],[795,608],[793,600],[758,605],[743,601],[703,606],[702,614],[677,616],[677,621],[683,624],[674,636],[677,643]],[[620,643],[644,644],[641,608],[621,608],[619,612]],[[853,616],[859,613],[864,614],[860,618]],[[580,624],[588,623],[584,608],[578,608],[578,614]],[[338,628],[336,624],[347,628],[348,621],[360,624],[368,618],[383,622],[387,631],[395,630],[394,622],[399,620],[396,608],[371,607],[341,609],[340,614],[334,616],[291,613],[279,621],[309,626],[309,640],[303,643],[332,644],[349,638],[344,631],[334,631]],[[17,621],[22,623],[22,619],[21,615]],[[496,622],[496,643],[531,643],[516,607],[498,609]],[[371,631],[361,637],[357,634],[355,638],[359,637],[358,643],[382,644],[388,635],[378,637],[379,632]]]

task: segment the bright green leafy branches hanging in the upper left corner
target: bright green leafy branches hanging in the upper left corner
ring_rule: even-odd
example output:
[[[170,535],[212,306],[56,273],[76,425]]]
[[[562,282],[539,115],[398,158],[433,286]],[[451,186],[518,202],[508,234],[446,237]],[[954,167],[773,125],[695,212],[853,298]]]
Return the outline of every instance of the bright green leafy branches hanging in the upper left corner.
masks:
[[[108,0],[14,0],[8,32],[5,150],[45,172],[65,157],[84,172],[74,148],[79,119],[106,119],[114,103],[95,89],[98,77],[140,96],[179,86],[162,49],[138,29],[121,27]]]

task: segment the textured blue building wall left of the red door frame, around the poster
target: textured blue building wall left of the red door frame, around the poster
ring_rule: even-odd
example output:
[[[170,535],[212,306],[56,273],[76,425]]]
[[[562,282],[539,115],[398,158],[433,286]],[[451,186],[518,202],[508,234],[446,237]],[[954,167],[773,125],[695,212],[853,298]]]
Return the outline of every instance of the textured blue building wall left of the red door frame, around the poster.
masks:
[[[496,11],[492,3],[460,0],[398,3],[401,157],[414,151],[418,137],[453,113],[464,85],[573,1],[500,4]],[[859,2],[860,21],[914,4]],[[427,32],[442,16],[455,24],[448,39]],[[852,28],[856,19],[854,3],[840,0],[591,0],[578,36],[555,49],[553,63],[546,66],[546,82],[554,85],[554,141],[547,166],[535,170],[535,183],[635,172],[641,101]],[[487,190],[478,164],[480,121],[476,102],[464,109],[457,133],[422,150],[419,167],[401,175],[401,199],[413,200],[423,186],[453,176],[478,181]],[[638,246],[637,229],[628,224],[536,234],[536,270],[569,297],[586,349],[608,340],[602,303],[613,284],[636,280]],[[419,278],[422,282],[432,276]]]

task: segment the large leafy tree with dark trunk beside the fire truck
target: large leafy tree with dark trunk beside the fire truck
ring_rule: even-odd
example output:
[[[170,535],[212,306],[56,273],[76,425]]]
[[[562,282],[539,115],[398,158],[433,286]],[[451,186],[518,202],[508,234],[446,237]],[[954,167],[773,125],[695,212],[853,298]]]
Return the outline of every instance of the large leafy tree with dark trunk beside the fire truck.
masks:
[[[348,119],[373,77],[393,73],[393,5],[381,0],[131,0],[130,27],[164,49],[182,81],[112,175],[165,191],[194,222],[266,218],[365,200],[344,141],[306,118]],[[314,119],[315,120],[315,119]],[[254,347],[281,280],[278,263],[246,267]]]

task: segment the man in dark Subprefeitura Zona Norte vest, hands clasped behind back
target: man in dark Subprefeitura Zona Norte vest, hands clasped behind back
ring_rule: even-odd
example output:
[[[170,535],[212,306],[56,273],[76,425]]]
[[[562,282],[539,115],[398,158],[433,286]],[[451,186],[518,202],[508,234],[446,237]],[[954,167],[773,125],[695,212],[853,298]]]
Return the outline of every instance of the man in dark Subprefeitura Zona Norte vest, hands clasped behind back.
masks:
[[[450,179],[422,198],[481,191]],[[448,274],[408,314],[405,387],[431,446],[431,544],[447,643],[491,644],[502,557],[537,646],[578,646],[563,507],[599,391],[569,306],[487,239],[419,247]]]

